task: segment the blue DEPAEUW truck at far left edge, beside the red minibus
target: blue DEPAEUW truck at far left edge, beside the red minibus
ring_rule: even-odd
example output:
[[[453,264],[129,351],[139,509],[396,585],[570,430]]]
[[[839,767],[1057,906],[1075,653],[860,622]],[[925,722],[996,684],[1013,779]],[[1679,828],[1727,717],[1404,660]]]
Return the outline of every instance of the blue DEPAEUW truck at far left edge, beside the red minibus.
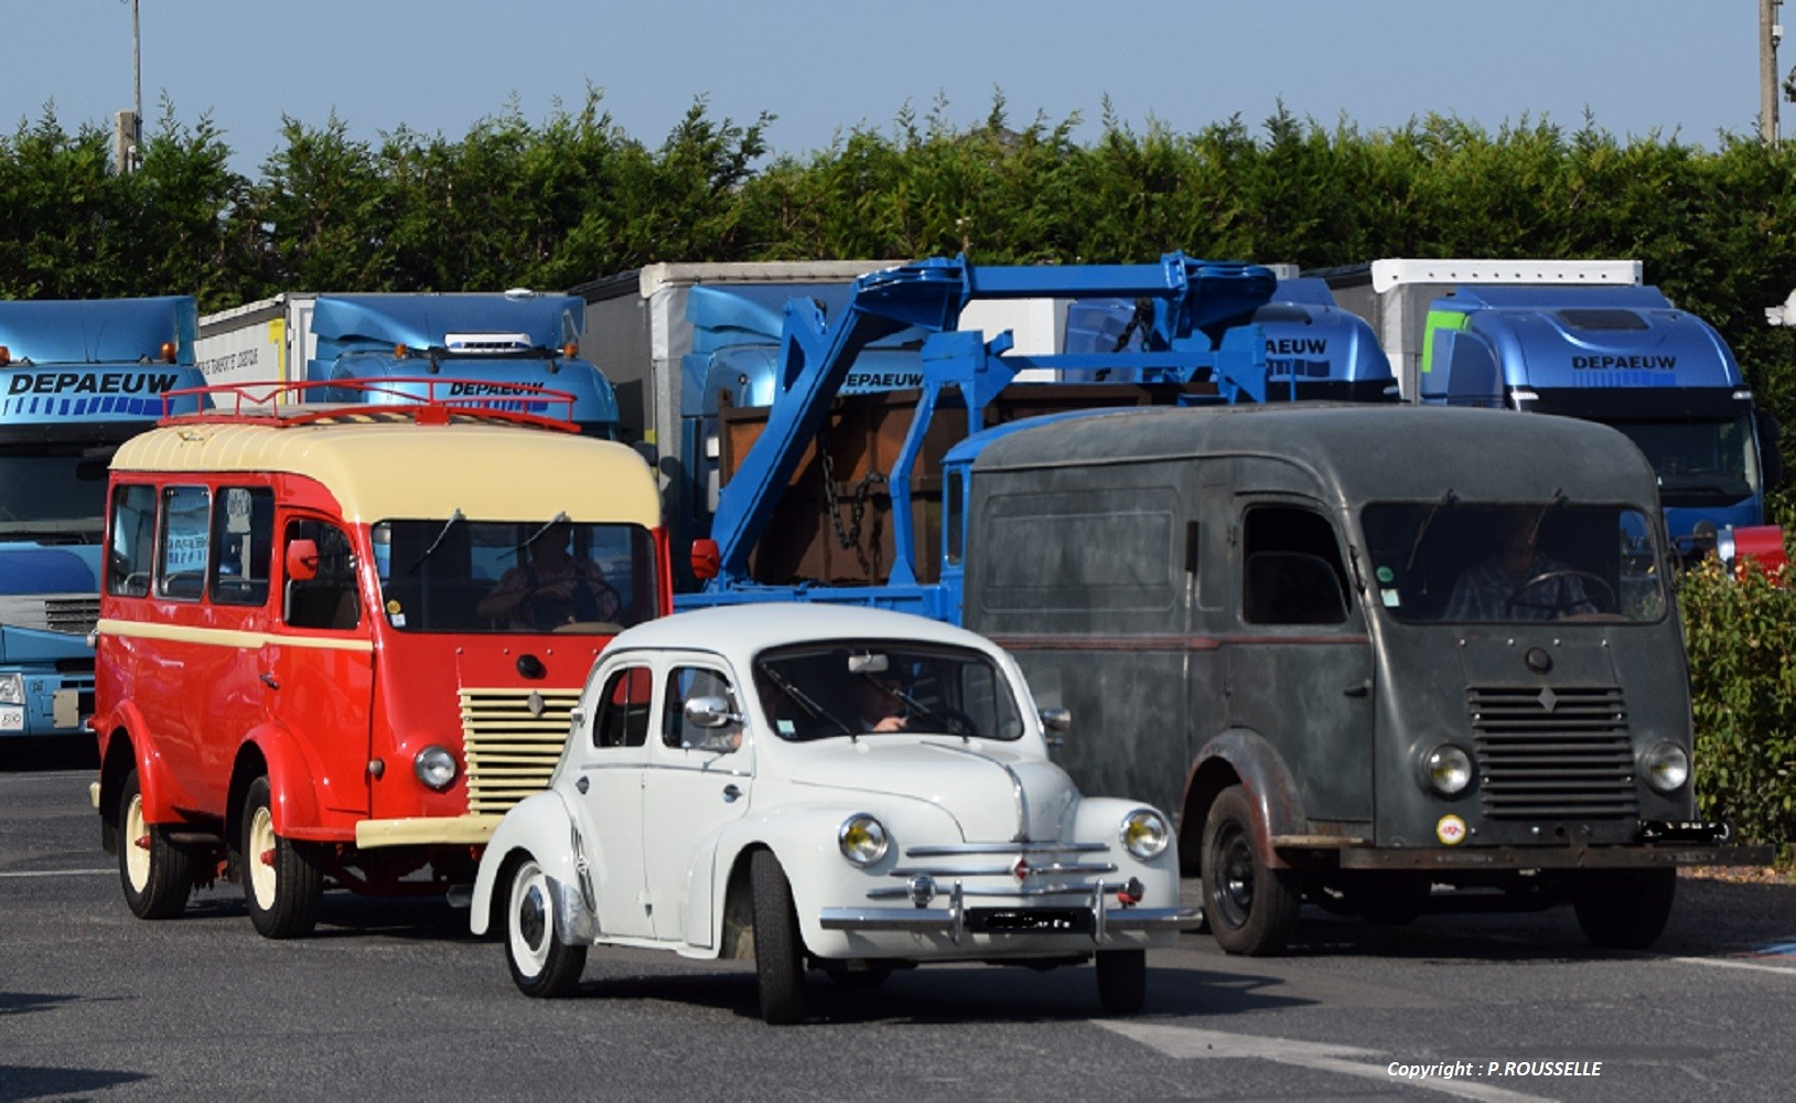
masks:
[[[0,302],[0,738],[93,711],[106,462],[201,383],[196,322],[190,296]]]

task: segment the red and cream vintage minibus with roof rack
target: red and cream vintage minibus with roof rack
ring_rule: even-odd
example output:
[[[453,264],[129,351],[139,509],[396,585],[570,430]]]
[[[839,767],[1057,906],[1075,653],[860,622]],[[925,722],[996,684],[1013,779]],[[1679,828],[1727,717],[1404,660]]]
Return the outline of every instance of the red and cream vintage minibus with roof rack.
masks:
[[[648,465],[519,410],[564,395],[307,386],[205,388],[111,462],[93,801],[142,918],[223,877],[291,938],[327,886],[471,884],[594,656],[670,611]]]

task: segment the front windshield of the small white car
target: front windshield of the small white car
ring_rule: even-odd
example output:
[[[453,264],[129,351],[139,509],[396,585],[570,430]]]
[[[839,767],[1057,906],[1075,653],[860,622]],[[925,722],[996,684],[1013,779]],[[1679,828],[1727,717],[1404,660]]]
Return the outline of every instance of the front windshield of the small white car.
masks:
[[[754,690],[779,738],[880,733],[1015,740],[1022,713],[988,656],[905,640],[832,640],[762,652]]]

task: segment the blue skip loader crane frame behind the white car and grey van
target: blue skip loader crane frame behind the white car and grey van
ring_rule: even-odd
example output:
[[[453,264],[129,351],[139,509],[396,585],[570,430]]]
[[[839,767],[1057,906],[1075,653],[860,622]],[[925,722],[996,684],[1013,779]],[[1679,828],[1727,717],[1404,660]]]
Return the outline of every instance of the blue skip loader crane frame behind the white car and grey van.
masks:
[[[828,600],[957,623],[964,517],[952,472],[1026,419],[1307,397],[1288,370],[1272,370],[1268,349],[1309,322],[1255,320],[1275,287],[1268,268],[1182,253],[1015,268],[929,259],[860,277],[833,318],[788,302],[778,377],[754,386],[770,401],[740,408],[727,388],[708,395],[727,481],[709,539],[695,543],[704,589],[675,604]],[[968,304],[1026,298],[1128,304],[1131,332],[1122,349],[1018,356],[1008,332],[959,329]],[[918,390],[842,393],[860,354],[898,334],[918,350]],[[1338,370],[1379,368],[1383,390],[1388,365],[1365,340]],[[1024,374],[1045,381],[1017,383]]]

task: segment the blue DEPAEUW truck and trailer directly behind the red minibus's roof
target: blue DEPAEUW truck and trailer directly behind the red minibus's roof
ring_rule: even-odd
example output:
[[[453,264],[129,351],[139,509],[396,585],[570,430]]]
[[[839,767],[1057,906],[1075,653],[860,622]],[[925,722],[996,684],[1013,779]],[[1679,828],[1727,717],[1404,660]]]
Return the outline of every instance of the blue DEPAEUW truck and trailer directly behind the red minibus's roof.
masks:
[[[399,395],[492,402],[530,388],[568,395],[555,415],[616,438],[618,397],[580,356],[585,304],[568,295],[287,293],[208,314],[199,323],[207,383],[388,383]],[[386,388],[383,388],[386,390]],[[379,401],[383,390],[318,388],[318,399]]]

